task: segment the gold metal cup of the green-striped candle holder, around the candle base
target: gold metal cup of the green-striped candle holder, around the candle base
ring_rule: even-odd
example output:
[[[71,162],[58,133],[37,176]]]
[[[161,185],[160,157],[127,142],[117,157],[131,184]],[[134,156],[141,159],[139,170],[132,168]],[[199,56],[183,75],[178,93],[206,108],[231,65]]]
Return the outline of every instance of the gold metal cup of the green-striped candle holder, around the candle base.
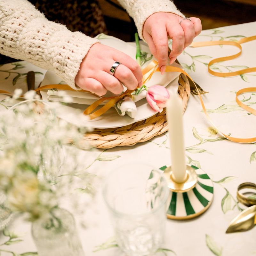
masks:
[[[186,180],[183,183],[177,183],[173,179],[172,166],[164,170],[164,176],[168,183],[168,188],[173,192],[184,193],[195,188],[197,183],[197,174],[195,169],[190,165],[186,165]]]

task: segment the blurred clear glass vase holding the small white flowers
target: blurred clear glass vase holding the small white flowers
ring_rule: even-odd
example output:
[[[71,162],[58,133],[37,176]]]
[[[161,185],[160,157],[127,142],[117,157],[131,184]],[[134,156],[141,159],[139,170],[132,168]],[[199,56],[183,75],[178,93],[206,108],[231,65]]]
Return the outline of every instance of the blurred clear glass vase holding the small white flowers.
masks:
[[[56,208],[32,223],[38,256],[84,256],[73,215]]]

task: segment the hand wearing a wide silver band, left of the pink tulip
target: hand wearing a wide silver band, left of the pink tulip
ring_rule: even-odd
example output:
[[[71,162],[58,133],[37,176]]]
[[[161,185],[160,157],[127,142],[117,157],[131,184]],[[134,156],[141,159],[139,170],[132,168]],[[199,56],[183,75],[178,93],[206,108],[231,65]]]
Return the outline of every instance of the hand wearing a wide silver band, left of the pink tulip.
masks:
[[[110,68],[120,62],[114,73],[109,74]],[[123,92],[123,85],[134,90],[142,85],[142,72],[138,63],[127,54],[103,44],[93,44],[84,57],[75,83],[80,88],[104,95],[107,91],[115,94]]]

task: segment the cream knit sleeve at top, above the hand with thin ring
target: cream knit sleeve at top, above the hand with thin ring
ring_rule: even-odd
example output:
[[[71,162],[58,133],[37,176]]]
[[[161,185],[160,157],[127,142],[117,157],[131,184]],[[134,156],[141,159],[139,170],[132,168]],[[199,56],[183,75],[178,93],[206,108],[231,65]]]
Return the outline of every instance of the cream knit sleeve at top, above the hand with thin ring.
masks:
[[[133,18],[141,39],[142,29],[147,18],[155,12],[172,12],[182,18],[185,16],[177,10],[175,4],[171,0],[118,0],[118,2],[126,9]]]

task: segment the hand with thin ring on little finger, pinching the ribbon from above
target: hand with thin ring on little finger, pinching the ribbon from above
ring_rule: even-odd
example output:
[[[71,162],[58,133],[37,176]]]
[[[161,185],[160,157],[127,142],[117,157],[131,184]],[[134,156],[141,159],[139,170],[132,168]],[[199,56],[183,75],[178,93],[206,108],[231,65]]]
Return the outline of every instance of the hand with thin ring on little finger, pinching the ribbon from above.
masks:
[[[183,20],[173,13],[156,12],[145,21],[143,36],[151,53],[158,60],[162,74],[168,62],[168,36],[172,39],[172,52],[169,55],[172,64],[202,31],[201,20],[194,17],[190,19],[191,21]]]

